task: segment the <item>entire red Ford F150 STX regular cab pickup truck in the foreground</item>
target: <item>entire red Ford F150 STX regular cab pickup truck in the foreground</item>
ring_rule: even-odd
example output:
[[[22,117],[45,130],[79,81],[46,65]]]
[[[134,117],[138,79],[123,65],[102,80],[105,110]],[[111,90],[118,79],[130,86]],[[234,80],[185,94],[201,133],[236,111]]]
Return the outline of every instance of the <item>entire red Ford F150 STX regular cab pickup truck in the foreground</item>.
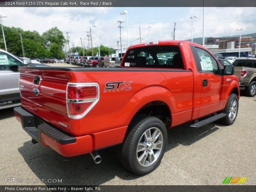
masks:
[[[120,68],[20,67],[22,106],[14,113],[33,143],[62,156],[90,153],[96,163],[97,150],[120,144],[121,163],[143,175],[160,164],[169,128],[234,123],[233,74],[195,43],[138,44]]]

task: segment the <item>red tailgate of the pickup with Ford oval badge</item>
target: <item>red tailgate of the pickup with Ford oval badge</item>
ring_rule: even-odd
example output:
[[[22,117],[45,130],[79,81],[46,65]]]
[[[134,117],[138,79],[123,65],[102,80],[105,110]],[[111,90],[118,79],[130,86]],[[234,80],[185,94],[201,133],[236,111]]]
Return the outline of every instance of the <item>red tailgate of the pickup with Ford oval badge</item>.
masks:
[[[20,68],[22,107],[68,132],[65,71]]]

